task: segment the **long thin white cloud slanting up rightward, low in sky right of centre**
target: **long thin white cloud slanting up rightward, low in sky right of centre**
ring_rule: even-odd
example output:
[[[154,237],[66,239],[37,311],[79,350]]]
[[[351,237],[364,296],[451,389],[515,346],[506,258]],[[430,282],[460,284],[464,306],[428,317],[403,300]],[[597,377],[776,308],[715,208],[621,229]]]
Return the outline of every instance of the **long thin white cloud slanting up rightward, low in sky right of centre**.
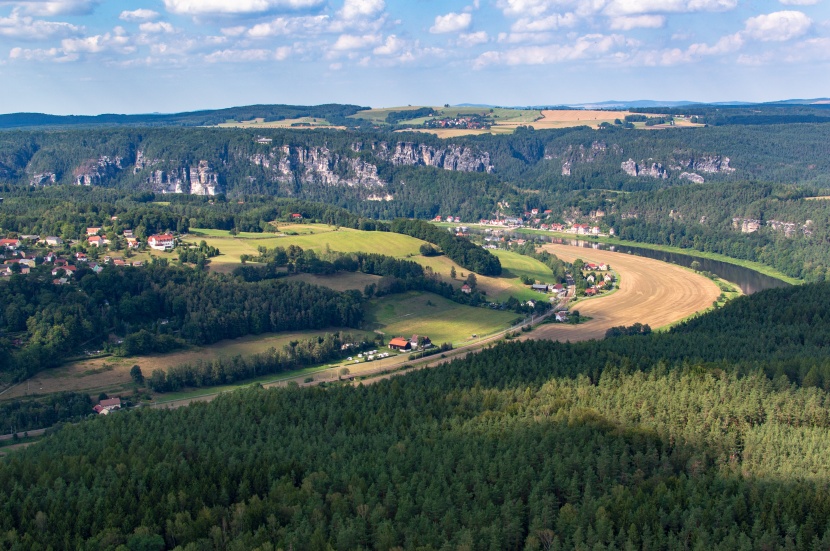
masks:
[[[488,65],[550,65],[600,58],[634,45],[622,35],[589,34],[579,37],[572,44],[524,46],[504,52],[485,52],[476,59],[474,66],[480,69]]]

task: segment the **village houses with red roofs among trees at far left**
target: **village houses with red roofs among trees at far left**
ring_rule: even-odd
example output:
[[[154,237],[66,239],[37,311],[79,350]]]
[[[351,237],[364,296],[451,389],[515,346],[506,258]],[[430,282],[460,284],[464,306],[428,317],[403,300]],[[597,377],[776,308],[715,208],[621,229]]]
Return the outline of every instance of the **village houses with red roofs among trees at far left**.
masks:
[[[101,230],[102,228],[98,227],[87,228],[87,247],[99,248],[110,244],[110,240],[101,233]],[[132,230],[124,230],[124,238],[130,249],[138,249],[141,246]],[[30,247],[30,244],[33,247]],[[55,278],[52,282],[55,285],[66,285],[72,281],[75,273],[83,266],[94,273],[100,273],[103,271],[104,265],[107,264],[118,267],[139,267],[143,265],[140,260],[130,263],[123,258],[104,256],[96,261],[89,258],[85,252],[65,253],[52,250],[63,248],[66,244],[63,239],[57,236],[41,238],[39,235],[21,235],[19,238],[0,239],[0,262],[2,262],[0,264],[0,277],[9,277],[15,273],[26,275],[31,273],[31,270],[39,264],[44,264],[52,267],[51,273]],[[78,243],[70,242],[68,244],[76,245]],[[147,245],[154,250],[169,251],[175,247],[176,240],[171,234],[153,235],[147,240]],[[44,251],[44,247],[47,250]]]

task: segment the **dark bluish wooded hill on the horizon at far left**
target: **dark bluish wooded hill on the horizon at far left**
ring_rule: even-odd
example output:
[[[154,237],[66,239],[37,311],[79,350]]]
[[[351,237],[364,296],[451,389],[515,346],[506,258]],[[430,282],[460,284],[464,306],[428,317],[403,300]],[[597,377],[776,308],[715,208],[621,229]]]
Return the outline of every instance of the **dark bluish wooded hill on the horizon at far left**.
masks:
[[[10,113],[0,115],[0,129],[66,127],[66,126],[213,126],[229,120],[265,122],[301,117],[326,119],[332,124],[345,124],[349,115],[367,109],[358,105],[248,105],[227,109],[211,109],[172,114],[146,115],[48,115],[44,113]],[[353,124],[354,121],[352,121]]]

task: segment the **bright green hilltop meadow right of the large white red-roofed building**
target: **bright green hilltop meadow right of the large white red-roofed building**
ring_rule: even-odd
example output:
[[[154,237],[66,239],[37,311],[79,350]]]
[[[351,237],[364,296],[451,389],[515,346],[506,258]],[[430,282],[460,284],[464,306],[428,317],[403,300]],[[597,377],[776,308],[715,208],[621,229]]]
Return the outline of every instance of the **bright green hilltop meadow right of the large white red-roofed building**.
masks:
[[[366,232],[340,228],[324,224],[297,224],[280,226],[283,233],[240,233],[233,236],[224,230],[203,230],[193,228],[191,235],[185,239],[190,243],[198,243],[202,240],[208,245],[217,247],[221,253],[211,259],[211,268],[219,269],[220,265],[239,264],[240,255],[249,254],[257,256],[257,247],[289,247],[297,245],[303,249],[312,249],[318,252],[325,251],[328,247],[332,251],[344,253],[371,252],[404,258],[420,254],[420,247],[423,241],[390,232]],[[299,235],[285,235],[285,232],[297,233]],[[221,269],[220,269],[221,271]]]

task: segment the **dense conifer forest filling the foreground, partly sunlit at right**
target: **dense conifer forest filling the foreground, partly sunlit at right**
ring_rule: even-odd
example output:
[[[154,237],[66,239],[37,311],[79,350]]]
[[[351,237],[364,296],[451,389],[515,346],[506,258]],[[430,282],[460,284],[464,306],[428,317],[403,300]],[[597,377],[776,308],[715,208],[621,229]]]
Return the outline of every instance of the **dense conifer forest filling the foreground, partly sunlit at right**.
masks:
[[[821,549],[828,300],[771,290],[667,334],[66,426],[0,461],[0,542]]]

